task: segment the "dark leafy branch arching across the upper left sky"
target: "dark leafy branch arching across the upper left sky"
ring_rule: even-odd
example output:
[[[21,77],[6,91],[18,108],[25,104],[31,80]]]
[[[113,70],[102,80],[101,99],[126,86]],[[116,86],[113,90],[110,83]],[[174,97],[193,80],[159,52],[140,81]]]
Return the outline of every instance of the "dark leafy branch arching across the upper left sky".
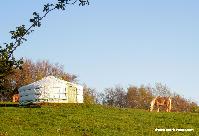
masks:
[[[4,43],[5,48],[0,46],[0,85],[3,78],[10,74],[13,69],[21,68],[23,59],[16,60],[14,58],[14,51],[27,41],[25,36],[32,33],[35,27],[41,27],[41,21],[50,12],[54,10],[65,10],[66,5],[75,5],[77,2],[79,2],[79,6],[89,5],[88,0],[57,0],[55,4],[47,3],[44,5],[42,16],[37,12],[33,12],[33,18],[29,20],[31,23],[30,27],[26,28],[25,25],[21,25],[16,27],[16,30],[10,31],[13,42]]]

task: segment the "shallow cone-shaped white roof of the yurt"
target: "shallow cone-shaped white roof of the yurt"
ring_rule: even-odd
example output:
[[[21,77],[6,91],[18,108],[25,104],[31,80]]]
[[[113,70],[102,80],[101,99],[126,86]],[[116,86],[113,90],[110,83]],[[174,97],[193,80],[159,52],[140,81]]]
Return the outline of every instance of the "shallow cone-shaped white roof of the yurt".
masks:
[[[60,87],[60,86],[65,86],[65,85],[66,85],[66,81],[56,78],[54,76],[47,76],[29,85],[22,86],[19,88],[19,90],[35,89],[35,88],[40,88],[44,86]]]

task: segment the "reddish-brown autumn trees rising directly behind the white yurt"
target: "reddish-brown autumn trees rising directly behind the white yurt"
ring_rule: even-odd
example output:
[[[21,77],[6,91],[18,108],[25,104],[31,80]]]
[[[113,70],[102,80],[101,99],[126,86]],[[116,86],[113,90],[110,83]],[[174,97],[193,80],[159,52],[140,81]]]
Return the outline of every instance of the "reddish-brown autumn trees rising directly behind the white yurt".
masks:
[[[17,93],[19,87],[30,84],[46,76],[56,76],[60,79],[75,82],[77,76],[64,72],[63,66],[56,63],[50,64],[49,61],[25,60],[22,64],[22,70],[16,69],[12,75],[5,78],[4,88],[12,90],[10,95]],[[5,97],[9,97],[6,96]]]

